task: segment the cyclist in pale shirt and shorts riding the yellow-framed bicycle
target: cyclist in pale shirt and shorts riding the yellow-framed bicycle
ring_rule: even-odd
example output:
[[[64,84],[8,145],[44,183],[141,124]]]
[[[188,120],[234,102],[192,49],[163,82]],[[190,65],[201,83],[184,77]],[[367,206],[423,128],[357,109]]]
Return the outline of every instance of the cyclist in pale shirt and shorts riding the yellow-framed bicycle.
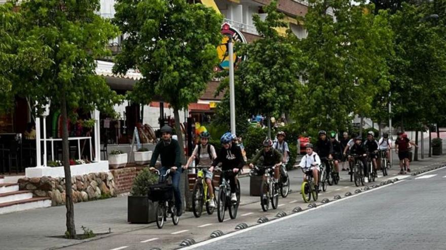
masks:
[[[217,158],[217,154],[215,154],[215,147],[209,144],[209,137],[210,134],[207,131],[200,133],[201,144],[195,146],[194,152],[192,152],[192,155],[189,158],[188,163],[186,164],[186,166],[184,166],[185,169],[188,169],[189,165],[191,165],[193,160],[195,160],[195,166],[198,165],[211,166],[213,160]],[[213,199],[214,191],[212,185],[213,171],[214,171],[213,167],[210,167],[207,171],[203,169],[203,172],[205,172],[204,179],[208,186],[209,197],[211,197],[211,201],[209,202],[210,208],[215,207]]]

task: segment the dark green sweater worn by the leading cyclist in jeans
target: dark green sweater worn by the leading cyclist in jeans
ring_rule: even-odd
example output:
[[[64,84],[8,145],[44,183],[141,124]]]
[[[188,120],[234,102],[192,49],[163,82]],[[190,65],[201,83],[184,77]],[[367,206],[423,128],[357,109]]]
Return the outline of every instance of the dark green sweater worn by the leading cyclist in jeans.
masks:
[[[150,161],[150,166],[155,167],[157,163],[158,156],[161,155],[161,166],[162,167],[177,167],[181,168],[181,160],[180,160],[180,147],[177,140],[171,139],[168,145],[164,145],[164,141],[161,140],[155,146],[155,151],[152,154],[152,159]]]

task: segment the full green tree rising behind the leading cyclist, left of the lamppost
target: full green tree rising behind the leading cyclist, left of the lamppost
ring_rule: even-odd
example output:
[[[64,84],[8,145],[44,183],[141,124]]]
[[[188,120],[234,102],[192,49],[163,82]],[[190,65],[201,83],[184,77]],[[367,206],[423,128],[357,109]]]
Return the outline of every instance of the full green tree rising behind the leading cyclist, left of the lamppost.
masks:
[[[196,102],[212,78],[222,17],[185,0],[118,0],[115,9],[114,22],[125,39],[114,72],[141,72],[130,98],[142,104],[157,98],[169,103],[182,147],[179,110]],[[184,163],[184,154],[181,158]]]

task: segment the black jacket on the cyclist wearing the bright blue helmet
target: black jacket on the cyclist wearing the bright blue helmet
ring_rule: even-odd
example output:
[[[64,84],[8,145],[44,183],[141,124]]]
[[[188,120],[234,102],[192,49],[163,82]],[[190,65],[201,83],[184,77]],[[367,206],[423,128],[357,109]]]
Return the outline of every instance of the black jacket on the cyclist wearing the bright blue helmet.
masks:
[[[212,166],[215,167],[221,163],[222,170],[229,170],[233,168],[241,169],[245,164],[240,147],[234,143],[229,149],[221,147],[217,154],[217,158],[212,162]]]

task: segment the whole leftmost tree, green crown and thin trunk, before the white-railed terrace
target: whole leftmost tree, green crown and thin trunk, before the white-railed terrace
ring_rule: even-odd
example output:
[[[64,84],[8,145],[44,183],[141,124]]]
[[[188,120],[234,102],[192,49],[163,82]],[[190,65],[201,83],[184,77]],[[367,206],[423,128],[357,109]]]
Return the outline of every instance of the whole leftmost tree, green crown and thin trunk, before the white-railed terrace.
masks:
[[[13,55],[11,59],[18,59],[17,62],[3,61],[6,65],[2,65],[2,70],[11,69],[7,77],[12,87],[7,88],[7,95],[28,98],[35,115],[40,115],[50,102],[52,107],[61,110],[66,234],[70,238],[77,235],[70,181],[68,117],[76,116],[79,108],[113,113],[113,104],[120,99],[95,73],[95,59],[110,54],[106,44],[118,35],[115,26],[95,14],[99,6],[98,0],[50,0],[24,1],[20,5],[13,2],[0,9],[0,16],[18,18],[15,29],[3,25],[1,31],[12,44],[6,53]],[[2,102],[12,103],[10,99]]]

